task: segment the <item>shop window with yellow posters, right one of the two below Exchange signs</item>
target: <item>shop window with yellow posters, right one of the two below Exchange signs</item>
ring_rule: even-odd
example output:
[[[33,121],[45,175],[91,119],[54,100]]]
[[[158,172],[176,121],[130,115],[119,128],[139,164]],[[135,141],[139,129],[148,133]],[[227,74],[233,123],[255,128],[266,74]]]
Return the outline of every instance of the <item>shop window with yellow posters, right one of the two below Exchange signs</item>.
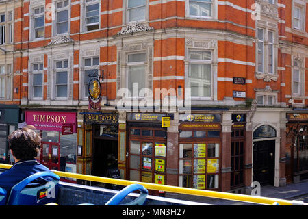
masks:
[[[179,144],[179,186],[219,188],[219,143]]]

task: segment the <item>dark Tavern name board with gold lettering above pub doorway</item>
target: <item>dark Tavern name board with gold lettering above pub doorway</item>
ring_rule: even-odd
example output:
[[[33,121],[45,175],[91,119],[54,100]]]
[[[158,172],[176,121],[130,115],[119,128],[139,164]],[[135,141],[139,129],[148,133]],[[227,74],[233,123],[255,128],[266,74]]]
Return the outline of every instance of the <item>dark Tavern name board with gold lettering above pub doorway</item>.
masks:
[[[84,114],[85,124],[117,124],[118,114]]]

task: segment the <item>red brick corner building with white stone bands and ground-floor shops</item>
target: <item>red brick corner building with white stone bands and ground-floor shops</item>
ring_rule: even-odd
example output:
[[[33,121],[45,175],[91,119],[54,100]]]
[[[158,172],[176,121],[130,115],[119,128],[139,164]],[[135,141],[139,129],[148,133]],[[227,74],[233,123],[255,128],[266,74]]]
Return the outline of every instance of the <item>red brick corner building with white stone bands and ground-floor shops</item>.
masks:
[[[12,65],[0,103],[40,130],[50,168],[105,176],[114,164],[123,179],[242,193],[302,180],[307,5],[1,1],[13,19],[0,22],[0,66]]]

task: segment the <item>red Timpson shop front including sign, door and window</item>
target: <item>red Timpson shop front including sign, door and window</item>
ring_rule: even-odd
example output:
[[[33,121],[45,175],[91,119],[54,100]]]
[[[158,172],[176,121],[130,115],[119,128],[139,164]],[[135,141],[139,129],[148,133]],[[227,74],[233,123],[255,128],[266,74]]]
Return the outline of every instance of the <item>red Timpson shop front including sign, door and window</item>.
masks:
[[[40,163],[51,170],[76,173],[76,112],[25,111],[25,122],[42,137]]]

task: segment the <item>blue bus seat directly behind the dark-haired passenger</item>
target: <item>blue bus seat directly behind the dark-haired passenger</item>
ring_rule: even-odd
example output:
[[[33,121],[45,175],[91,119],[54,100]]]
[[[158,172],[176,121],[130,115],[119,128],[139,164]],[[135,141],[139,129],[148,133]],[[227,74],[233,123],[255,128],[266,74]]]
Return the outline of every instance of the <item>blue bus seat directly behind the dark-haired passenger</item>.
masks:
[[[44,185],[33,188],[26,186],[41,177],[51,177]],[[45,205],[57,200],[60,177],[53,172],[36,172],[14,185],[8,197],[7,205]]]

